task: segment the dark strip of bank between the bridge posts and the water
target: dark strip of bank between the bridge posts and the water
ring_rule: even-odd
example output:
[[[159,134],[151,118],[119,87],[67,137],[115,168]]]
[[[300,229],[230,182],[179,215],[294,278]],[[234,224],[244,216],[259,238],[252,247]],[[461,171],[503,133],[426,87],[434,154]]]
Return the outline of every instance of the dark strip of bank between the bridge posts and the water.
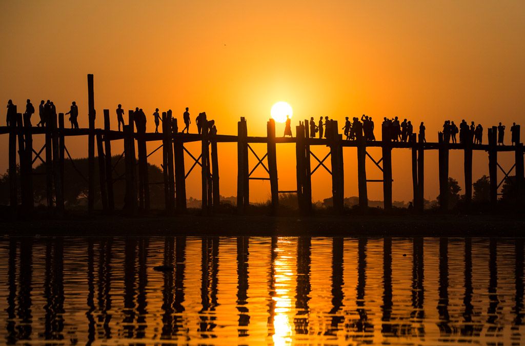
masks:
[[[0,222],[0,236],[525,237],[519,215],[95,216]]]

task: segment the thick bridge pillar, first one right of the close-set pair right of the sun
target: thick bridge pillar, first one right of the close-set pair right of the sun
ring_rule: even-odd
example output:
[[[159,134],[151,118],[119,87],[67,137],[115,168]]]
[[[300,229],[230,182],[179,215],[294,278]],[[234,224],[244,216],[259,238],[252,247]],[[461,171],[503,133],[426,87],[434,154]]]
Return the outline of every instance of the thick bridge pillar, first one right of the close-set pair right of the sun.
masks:
[[[344,166],[343,147],[337,121],[331,120],[331,133],[328,134],[330,146],[330,159],[332,161],[332,201],[336,213],[344,210]]]

